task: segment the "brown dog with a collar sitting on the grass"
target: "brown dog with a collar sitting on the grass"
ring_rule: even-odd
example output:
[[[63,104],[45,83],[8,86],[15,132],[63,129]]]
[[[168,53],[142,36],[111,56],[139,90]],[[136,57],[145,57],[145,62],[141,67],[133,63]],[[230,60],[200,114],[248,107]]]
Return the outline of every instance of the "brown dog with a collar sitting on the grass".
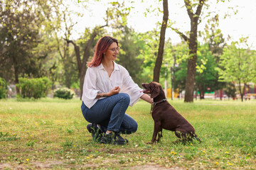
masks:
[[[151,94],[151,98],[154,99],[152,111],[154,133],[151,140],[152,143],[155,141],[159,142],[162,137],[163,128],[174,131],[175,135],[181,138],[183,142],[193,140],[193,138],[199,140],[193,126],[166,101],[166,96],[159,83],[152,81],[149,84],[142,84],[142,86],[144,94]],[[158,138],[156,139],[157,135]]]

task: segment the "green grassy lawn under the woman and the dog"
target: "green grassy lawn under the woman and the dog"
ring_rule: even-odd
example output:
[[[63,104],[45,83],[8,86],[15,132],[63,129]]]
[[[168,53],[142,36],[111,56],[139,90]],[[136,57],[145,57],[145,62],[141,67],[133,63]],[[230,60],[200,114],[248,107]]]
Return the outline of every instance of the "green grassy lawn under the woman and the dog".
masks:
[[[256,101],[169,101],[203,141],[174,144],[164,130],[151,140],[150,106],[127,113],[139,129],[125,146],[92,142],[79,99],[0,101],[0,169],[256,169]]]

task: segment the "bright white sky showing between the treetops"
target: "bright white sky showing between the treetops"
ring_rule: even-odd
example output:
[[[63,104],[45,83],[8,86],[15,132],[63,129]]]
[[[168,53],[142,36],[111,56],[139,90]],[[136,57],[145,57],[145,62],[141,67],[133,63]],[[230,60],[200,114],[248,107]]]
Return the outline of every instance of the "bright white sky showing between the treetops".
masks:
[[[71,0],[77,1],[77,0]],[[222,31],[225,38],[228,35],[231,36],[231,40],[238,41],[242,37],[248,37],[247,43],[249,47],[256,50],[256,0],[226,0],[223,2],[215,3],[216,0],[210,0],[210,8],[207,10],[203,8],[203,12],[207,13],[211,11],[214,15],[218,13],[220,15],[220,24],[218,28]],[[107,0],[102,0],[101,2],[90,2],[87,5],[87,9],[78,8],[77,6],[71,8],[74,11],[84,13],[83,18],[74,17],[74,20],[78,19],[78,24],[75,26],[75,33],[73,33],[73,38],[78,38],[79,33],[82,33],[85,28],[93,28],[96,25],[104,24],[105,11],[107,9]],[[127,0],[128,2],[128,0]],[[181,30],[181,32],[190,30],[190,20],[184,7],[183,0],[169,0],[169,19],[174,22],[174,27]],[[151,0],[144,0],[142,4],[141,0],[134,1],[129,16],[128,25],[134,28],[135,31],[144,33],[148,30],[153,30],[156,28],[156,23],[162,20],[162,14],[156,14],[156,12],[148,13],[146,16],[146,8],[151,10],[155,7],[162,8],[162,4],[154,3]],[[234,14],[234,11],[238,10],[238,13]],[[231,14],[230,16],[224,18],[225,14]],[[206,21],[206,20],[204,20]],[[205,23],[200,23],[198,30],[202,30],[205,27]],[[170,28],[166,29],[166,38],[171,38],[171,42],[178,43],[181,42],[181,38]]]

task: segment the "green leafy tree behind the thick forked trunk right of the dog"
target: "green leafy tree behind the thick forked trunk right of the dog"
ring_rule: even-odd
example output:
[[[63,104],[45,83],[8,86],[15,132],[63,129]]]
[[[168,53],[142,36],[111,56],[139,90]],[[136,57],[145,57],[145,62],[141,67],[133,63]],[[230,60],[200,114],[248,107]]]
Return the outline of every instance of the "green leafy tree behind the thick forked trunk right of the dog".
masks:
[[[175,88],[178,88],[179,92],[181,92],[186,86],[186,66],[188,64],[189,52],[185,45],[177,45],[174,49],[176,49],[176,61],[179,64],[175,71]],[[218,89],[218,72],[215,70],[218,63],[210,52],[208,44],[198,45],[197,56],[195,83],[200,98],[203,99],[206,92]]]

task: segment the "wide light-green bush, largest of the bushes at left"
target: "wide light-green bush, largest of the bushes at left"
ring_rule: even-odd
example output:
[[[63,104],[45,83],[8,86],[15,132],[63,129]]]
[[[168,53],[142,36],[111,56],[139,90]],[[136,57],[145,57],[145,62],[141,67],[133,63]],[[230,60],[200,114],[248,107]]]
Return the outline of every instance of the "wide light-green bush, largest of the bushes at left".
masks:
[[[28,79],[20,78],[16,84],[20,90],[19,97],[21,98],[41,98],[48,94],[51,81],[47,77]]]

